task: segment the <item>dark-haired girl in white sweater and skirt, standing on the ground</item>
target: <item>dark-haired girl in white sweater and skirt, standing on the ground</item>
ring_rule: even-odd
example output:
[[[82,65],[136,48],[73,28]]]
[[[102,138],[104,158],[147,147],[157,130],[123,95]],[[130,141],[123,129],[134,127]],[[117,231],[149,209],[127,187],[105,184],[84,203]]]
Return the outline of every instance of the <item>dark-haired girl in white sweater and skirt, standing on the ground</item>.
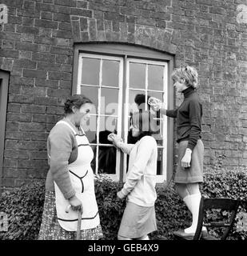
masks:
[[[157,230],[154,202],[157,172],[157,142],[152,134],[157,130],[149,111],[133,113],[130,130],[137,138],[135,144],[125,144],[116,134],[108,139],[129,154],[129,168],[125,185],[118,198],[127,198],[122,222],[118,230],[119,240],[148,240],[148,234]]]

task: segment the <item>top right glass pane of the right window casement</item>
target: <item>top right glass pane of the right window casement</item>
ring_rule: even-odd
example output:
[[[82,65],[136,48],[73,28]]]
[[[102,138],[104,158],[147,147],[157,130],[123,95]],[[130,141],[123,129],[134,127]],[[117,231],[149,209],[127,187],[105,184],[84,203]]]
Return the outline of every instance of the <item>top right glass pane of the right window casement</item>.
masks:
[[[148,66],[148,89],[163,90],[163,71],[164,66]]]

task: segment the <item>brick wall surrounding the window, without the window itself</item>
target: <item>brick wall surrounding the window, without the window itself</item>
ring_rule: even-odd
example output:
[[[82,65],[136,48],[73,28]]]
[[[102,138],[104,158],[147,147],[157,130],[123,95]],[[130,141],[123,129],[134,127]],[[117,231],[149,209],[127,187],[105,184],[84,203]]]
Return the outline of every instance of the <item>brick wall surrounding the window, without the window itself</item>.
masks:
[[[241,0],[1,0],[0,68],[10,70],[3,185],[45,178],[46,138],[70,95],[74,42],[125,42],[193,65],[205,166],[246,168],[247,30]]]

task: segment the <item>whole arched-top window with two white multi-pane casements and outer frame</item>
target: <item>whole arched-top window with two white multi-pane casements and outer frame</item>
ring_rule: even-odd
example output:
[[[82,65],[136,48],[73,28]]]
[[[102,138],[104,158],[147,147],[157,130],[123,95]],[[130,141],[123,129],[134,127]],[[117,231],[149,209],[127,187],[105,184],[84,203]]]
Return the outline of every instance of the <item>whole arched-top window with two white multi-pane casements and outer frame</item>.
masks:
[[[169,90],[172,63],[169,55],[138,46],[75,47],[73,93],[85,94],[95,106],[84,130],[94,150],[92,167],[96,174],[104,173],[114,180],[125,181],[129,157],[116,150],[107,136],[114,132],[124,142],[134,143],[129,132],[131,116],[135,111],[150,110],[147,104],[150,96],[160,98],[166,107],[173,107],[173,90]],[[137,94],[142,104],[135,102]],[[165,115],[153,114],[159,126],[154,134],[158,146],[157,182],[163,182],[173,165],[170,158],[173,155],[170,152],[173,151],[173,122]]]

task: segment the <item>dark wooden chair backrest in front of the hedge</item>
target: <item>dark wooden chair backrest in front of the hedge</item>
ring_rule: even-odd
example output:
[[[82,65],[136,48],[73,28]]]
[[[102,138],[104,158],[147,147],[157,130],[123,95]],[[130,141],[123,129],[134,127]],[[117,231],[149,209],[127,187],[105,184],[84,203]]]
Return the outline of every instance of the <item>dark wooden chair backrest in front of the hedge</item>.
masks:
[[[197,230],[193,237],[193,240],[199,240],[202,226],[206,226],[207,228],[224,227],[225,230],[221,236],[221,240],[225,240],[229,234],[229,231],[233,227],[233,222],[236,218],[237,209],[240,205],[240,202],[241,202],[240,199],[204,198],[203,196],[201,196]],[[204,223],[204,220],[206,218],[206,210],[213,210],[213,209],[231,211],[231,214],[228,218],[229,222],[226,222],[226,220],[217,220],[215,222]]]

